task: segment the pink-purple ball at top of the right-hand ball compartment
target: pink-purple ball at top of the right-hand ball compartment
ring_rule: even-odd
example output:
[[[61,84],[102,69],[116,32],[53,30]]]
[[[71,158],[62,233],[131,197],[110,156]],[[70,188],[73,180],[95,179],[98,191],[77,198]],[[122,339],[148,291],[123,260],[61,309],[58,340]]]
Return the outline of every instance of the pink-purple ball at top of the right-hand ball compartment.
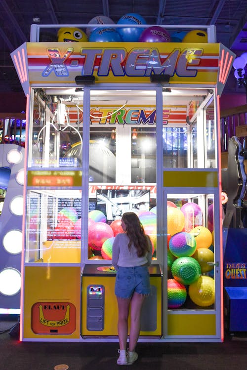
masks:
[[[203,211],[196,203],[186,203],[180,209],[185,216],[184,231],[189,232],[194,227],[203,225]]]

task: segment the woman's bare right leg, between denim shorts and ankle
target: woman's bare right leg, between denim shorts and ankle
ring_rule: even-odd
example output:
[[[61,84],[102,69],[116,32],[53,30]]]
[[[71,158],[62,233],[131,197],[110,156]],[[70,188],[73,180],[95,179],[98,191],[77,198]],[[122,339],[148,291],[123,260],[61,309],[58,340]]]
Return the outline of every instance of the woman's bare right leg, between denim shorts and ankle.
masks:
[[[145,295],[134,292],[131,298],[129,351],[134,351],[140,334],[141,309]]]

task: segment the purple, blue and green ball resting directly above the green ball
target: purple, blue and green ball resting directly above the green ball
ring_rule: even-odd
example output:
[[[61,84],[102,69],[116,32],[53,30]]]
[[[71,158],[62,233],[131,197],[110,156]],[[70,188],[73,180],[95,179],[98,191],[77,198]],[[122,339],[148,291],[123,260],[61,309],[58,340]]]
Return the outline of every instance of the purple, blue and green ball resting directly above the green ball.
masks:
[[[195,237],[189,233],[177,233],[169,241],[170,252],[175,257],[190,257],[195,253],[196,248]]]

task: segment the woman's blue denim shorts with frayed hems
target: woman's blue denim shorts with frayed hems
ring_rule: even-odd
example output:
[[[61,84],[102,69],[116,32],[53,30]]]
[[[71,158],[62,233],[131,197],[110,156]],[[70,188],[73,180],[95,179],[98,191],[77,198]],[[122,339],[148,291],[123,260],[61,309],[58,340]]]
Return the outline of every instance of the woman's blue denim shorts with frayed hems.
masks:
[[[150,278],[147,266],[118,266],[115,294],[120,298],[131,298],[134,292],[150,294]]]

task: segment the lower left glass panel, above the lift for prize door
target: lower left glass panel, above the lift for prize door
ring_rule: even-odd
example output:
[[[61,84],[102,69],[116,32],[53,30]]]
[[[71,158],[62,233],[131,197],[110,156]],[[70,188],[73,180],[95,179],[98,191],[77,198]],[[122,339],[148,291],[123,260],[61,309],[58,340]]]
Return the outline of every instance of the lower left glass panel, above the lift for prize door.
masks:
[[[81,190],[28,191],[26,262],[80,263]]]

